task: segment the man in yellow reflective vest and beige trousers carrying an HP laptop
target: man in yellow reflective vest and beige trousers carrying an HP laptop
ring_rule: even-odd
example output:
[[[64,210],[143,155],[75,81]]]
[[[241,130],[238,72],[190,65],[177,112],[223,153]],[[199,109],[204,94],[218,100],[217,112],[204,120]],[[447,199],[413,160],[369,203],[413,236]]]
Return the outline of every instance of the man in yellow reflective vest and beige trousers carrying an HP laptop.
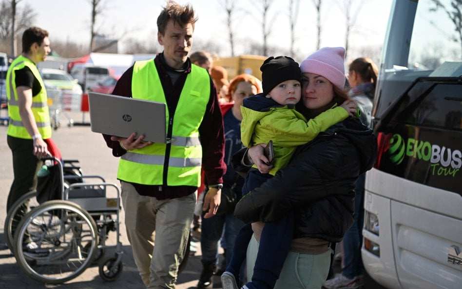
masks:
[[[220,204],[226,171],[223,119],[207,70],[188,58],[196,20],[190,5],[168,1],[157,18],[163,52],[135,62],[113,92],[166,103],[167,135],[173,142],[143,142],[136,132],[128,138],[104,135],[113,155],[120,156],[125,227],[147,288],[175,288],[189,246],[201,166],[211,187],[205,217],[215,215]]]

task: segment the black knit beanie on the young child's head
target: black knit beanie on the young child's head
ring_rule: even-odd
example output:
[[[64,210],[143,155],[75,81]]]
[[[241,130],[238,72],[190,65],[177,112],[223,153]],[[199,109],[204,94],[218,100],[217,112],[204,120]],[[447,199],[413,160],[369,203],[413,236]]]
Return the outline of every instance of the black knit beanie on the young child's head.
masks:
[[[302,73],[298,63],[287,56],[267,58],[260,70],[262,71],[263,94],[265,95],[283,81],[293,79],[302,82]]]

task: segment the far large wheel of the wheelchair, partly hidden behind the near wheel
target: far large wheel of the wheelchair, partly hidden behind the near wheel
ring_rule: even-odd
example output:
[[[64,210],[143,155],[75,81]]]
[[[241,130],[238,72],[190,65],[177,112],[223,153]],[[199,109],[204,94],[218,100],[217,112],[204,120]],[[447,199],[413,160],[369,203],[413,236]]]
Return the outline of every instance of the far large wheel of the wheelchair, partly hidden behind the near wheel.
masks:
[[[6,214],[3,232],[5,234],[6,245],[12,252],[15,230],[19,222],[28,212],[39,206],[36,196],[36,191],[26,193],[11,206],[10,211]]]

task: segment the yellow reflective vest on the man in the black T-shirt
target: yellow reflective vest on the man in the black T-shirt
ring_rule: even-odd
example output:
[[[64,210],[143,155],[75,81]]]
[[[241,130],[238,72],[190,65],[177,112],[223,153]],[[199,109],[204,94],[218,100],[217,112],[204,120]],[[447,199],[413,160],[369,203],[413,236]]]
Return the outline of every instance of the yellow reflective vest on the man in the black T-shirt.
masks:
[[[19,101],[18,93],[16,91],[16,71],[24,67],[28,67],[35,78],[40,83],[40,92],[38,95],[32,97],[31,110],[34,115],[34,119],[39,129],[40,135],[46,139],[51,137],[52,129],[50,123],[50,114],[48,112],[47,94],[45,85],[39,74],[37,66],[29,58],[19,56],[16,58],[8,69],[6,74],[7,86],[6,96],[8,98],[8,116],[9,125],[7,134],[14,137],[32,139],[29,135],[24,124],[22,123],[21,116],[19,114]]]

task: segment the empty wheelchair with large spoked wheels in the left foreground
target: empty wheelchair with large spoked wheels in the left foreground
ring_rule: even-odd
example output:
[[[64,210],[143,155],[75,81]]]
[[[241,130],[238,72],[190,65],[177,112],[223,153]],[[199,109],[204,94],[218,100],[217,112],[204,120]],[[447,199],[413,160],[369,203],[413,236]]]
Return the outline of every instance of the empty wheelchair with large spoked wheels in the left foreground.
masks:
[[[76,161],[63,169],[52,156],[44,160],[49,167],[56,166],[60,198],[39,203],[37,192],[27,193],[5,220],[7,244],[19,267],[36,281],[60,284],[83,273],[107,248],[115,248],[115,256],[100,262],[99,276],[116,280],[123,270],[119,189],[101,176],[83,175]],[[97,182],[87,181],[95,178]],[[115,196],[108,197],[107,189]],[[116,231],[116,245],[106,245],[110,231]]]

